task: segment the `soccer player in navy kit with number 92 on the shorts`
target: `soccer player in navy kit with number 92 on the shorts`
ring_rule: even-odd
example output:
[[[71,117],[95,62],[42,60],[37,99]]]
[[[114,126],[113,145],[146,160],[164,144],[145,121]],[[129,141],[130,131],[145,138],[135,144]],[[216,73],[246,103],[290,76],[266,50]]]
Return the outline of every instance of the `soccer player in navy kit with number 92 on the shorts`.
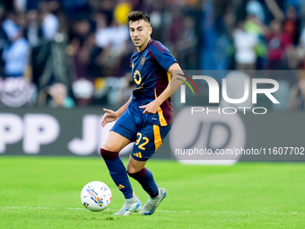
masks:
[[[118,121],[100,148],[100,154],[112,180],[126,198],[124,206],[114,215],[128,216],[139,210],[142,215],[152,215],[167,191],[158,188],[153,173],[145,168],[145,164],[170,131],[170,95],[183,84],[179,79],[184,77],[169,49],[151,39],[153,28],[147,13],[129,13],[127,22],[131,40],[137,49],[130,60],[135,90],[129,101],[117,111],[104,109],[106,113],[101,120],[102,127]],[[131,142],[135,142],[135,145],[126,171],[118,153]],[[127,174],[148,193],[149,199],[144,207],[135,196]]]

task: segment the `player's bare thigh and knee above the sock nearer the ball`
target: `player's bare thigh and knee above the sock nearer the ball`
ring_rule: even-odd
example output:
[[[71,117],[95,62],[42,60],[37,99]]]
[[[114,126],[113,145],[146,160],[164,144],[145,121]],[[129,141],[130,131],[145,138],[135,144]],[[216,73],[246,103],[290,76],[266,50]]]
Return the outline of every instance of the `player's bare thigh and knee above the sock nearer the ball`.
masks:
[[[119,135],[117,132],[110,131],[109,137],[107,137],[102,148],[110,152],[119,153],[130,142],[128,138]]]

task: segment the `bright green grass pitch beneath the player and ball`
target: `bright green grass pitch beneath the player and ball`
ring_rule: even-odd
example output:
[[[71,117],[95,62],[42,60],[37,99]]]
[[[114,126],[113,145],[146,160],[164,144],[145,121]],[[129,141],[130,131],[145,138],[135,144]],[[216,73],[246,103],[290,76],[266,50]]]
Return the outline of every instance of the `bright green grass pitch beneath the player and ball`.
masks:
[[[126,163],[126,160],[124,161]],[[0,228],[304,228],[304,163],[184,165],[151,160],[147,167],[168,190],[153,216],[112,216],[124,198],[101,158],[0,157]],[[104,181],[112,202],[85,209],[80,192]],[[136,195],[148,196],[135,181]]]

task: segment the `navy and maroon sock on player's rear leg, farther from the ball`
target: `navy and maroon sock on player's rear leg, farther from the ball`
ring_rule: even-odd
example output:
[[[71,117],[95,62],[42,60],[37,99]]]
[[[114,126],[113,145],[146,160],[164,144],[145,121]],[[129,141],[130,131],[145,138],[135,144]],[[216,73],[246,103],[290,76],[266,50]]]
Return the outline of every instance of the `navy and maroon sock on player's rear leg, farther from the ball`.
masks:
[[[148,193],[148,195],[150,195],[151,198],[158,196],[159,188],[156,181],[153,179],[153,172],[144,167],[139,172],[127,173],[130,177],[134,178],[135,181],[138,181],[142,185],[142,188]]]

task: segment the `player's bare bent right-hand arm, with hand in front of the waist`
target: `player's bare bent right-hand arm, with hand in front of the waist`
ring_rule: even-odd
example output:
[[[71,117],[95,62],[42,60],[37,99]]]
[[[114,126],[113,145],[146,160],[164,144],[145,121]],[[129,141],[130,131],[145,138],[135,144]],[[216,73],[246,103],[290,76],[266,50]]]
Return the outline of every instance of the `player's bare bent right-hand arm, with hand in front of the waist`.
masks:
[[[179,89],[180,85],[183,84],[183,81],[181,80],[185,80],[185,77],[182,76],[184,74],[178,63],[174,63],[172,66],[170,66],[169,72],[171,75],[171,80],[170,84],[165,88],[165,90],[161,92],[161,94],[154,101],[151,101],[144,106],[140,106],[141,109],[144,109],[144,114],[155,114],[163,101],[169,99],[170,96]]]

